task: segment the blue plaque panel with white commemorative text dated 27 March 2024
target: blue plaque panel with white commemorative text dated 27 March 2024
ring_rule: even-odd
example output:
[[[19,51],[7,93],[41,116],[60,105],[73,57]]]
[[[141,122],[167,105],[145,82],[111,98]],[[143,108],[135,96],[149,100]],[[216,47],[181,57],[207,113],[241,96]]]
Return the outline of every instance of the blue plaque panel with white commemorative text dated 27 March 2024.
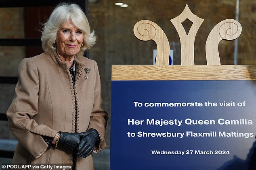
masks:
[[[255,81],[112,81],[111,90],[110,170],[246,170],[255,162]]]

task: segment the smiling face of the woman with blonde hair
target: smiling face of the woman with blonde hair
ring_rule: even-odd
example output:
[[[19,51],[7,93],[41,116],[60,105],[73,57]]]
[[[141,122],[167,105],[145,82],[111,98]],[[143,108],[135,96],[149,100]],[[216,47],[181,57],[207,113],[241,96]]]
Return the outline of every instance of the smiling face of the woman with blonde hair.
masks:
[[[56,38],[57,53],[65,58],[76,55],[84,40],[84,31],[68,20],[58,31]]]

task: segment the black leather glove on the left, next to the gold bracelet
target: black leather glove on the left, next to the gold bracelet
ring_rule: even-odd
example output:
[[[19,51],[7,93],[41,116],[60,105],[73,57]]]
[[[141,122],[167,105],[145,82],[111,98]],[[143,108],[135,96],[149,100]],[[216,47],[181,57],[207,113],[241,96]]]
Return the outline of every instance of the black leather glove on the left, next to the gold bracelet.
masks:
[[[61,148],[65,152],[76,153],[77,147],[80,143],[80,137],[78,133],[69,133],[69,132],[59,132],[61,134],[59,142],[57,144],[58,148]]]

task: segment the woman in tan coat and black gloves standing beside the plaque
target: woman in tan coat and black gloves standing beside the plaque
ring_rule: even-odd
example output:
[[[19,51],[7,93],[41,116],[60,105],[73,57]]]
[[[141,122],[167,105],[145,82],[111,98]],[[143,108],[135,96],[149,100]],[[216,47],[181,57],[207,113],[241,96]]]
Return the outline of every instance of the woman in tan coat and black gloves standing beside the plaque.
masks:
[[[83,57],[94,32],[76,4],[59,4],[42,30],[44,53],[19,66],[7,116],[18,139],[13,163],[66,164],[93,170],[92,152],[106,147],[97,63]]]

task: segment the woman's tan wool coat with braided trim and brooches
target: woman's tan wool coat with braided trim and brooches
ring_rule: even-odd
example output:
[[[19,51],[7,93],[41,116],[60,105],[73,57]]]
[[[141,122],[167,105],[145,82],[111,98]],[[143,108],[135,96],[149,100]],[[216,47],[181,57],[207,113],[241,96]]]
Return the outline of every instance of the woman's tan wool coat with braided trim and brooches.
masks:
[[[54,137],[59,131],[96,129],[100,140],[94,152],[106,147],[108,115],[101,108],[97,63],[86,57],[75,57],[75,61],[74,84],[69,68],[56,53],[21,61],[16,96],[7,111],[9,127],[18,139],[13,163],[73,165],[73,154],[48,147],[42,137]],[[92,155],[74,159],[76,169],[93,170]]]

